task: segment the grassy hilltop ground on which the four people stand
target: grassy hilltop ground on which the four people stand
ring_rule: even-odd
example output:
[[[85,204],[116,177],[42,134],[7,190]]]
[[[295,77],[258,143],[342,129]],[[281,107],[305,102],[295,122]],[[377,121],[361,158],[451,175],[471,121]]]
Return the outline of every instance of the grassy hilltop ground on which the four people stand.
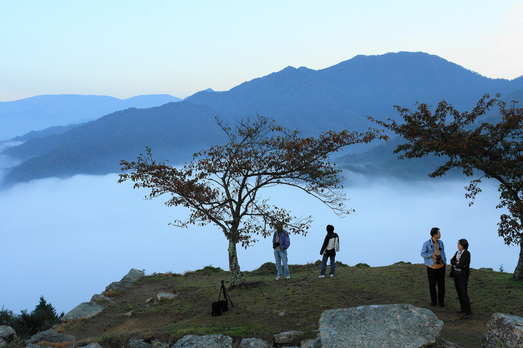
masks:
[[[153,273],[132,289],[107,294],[116,300],[105,302],[106,309],[99,315],[61,324],[58,329],[105,348],[120,348],[129,338],[172,343],[189,333],[224,333],[271,342],[273,334],[287,330],[304,331],[306,338],[315,338],[326,309],[409,303],[429,308],[444,321],[443,338],[463,347],[477,347],[494,312],[523,316],[523,284],[514,282],[509,273],[472,269],[472,318],[459,320],[452,279],[446,279],[447,306],[429,306],[424,264],[400,262],[372,268],[337,264],[336,275],[324,279],[318,278],[319,261],[289,265],[291,280],[275,281],[276,269],[271,262],[243,272],[246,286],[228,290],[234,307],[229,306],[219,317],[211,316],[211,303],[218,299],[220,281],[228,280],[228,272],[206,266],[183,275]],[[177,296],[158,304],[145,302],[159,292]],[[131,316],[126,315],[129,311]]]

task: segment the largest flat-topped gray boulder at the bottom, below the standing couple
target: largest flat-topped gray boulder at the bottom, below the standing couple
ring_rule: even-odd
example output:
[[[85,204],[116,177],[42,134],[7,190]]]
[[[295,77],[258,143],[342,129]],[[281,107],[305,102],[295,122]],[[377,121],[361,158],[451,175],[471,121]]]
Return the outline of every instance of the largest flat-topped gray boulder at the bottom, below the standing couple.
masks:
[[[320,317],[323,347],[417,348],[436,342],[443,327],[433,312],[410,304],[330,309]]]

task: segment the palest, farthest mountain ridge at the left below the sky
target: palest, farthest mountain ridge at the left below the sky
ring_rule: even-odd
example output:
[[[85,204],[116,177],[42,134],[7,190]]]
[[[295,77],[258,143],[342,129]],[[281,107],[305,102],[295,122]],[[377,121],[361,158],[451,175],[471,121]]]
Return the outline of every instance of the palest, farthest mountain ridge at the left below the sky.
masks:
[[[128,99],[61,94],[3,101],[0,102],[0,141],[51,126],[94,120],[118,110],[152,108],[180,100],[182,99],[168,94],[135,96]]]

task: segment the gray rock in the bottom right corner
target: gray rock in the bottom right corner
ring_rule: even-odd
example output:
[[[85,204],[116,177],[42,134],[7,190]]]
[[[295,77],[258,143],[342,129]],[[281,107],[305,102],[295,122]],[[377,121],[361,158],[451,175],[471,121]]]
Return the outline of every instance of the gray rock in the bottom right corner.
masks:
[[[499,347],[499,341],[506,348],[523,348],[523,318],[494,313],[487,323],[487,330],[481,335],[481,346]]]

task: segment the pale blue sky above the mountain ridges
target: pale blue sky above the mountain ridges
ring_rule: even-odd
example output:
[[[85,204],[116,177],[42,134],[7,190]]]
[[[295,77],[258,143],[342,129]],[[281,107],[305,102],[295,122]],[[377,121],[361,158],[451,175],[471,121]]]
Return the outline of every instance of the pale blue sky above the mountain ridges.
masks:
[[[0,0],[0,101],[228,90],[286,66],[423,51],[523,74],[523,1]]]

